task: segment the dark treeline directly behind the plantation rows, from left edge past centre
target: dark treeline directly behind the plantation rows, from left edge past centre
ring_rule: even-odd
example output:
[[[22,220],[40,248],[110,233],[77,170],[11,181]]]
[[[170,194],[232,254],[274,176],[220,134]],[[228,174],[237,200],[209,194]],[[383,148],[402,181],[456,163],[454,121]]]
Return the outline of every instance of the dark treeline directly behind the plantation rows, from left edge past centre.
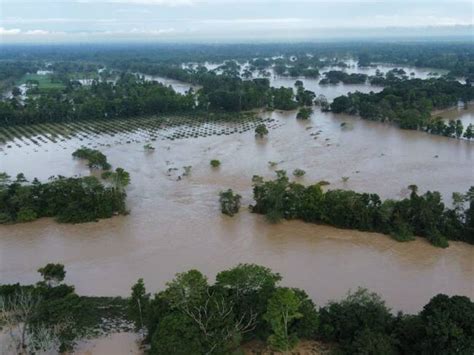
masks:
[[[238,75],[195,71],[194,93],[176,93],[171,87],[122,74],[116,83],[93,81],[90,86],[69,81],[65,89],[29,93],[24,102],[0,101],[0,125],[113,119],[160,113],[195,111],[240,112],[255,108],[294,109],[291,88],[273,88],[266,78],[242,80]]]

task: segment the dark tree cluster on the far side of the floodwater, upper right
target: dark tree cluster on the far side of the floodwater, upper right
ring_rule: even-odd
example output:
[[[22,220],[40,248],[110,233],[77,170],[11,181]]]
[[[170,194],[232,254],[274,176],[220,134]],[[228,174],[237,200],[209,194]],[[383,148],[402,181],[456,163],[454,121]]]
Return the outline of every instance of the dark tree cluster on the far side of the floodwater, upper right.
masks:
[[[405,129],[426,129],[431,111],[474,99],[470,84],[442,79],[411,79],[390,85],[379,93],[349,93],[336,97],[331,111],[390,121]]]

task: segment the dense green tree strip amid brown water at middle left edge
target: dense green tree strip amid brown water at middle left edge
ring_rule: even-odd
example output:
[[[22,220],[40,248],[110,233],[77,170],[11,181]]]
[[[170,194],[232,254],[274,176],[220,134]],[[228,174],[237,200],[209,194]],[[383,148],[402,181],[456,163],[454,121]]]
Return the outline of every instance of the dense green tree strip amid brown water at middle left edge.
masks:
[[[105,186],[94,176],[57,176],[45,183],[35,178],[29,183],[23,174],[11,180],[2,173],[0,223],[29,222],[41,217],[55,217],[62,223],[81,223],[125,214],[126,194],[121,187],[123,175],[128,173],[118,168],[110,174],[112,177],[119,174],[119,178],[111,179],[111,186]]]

